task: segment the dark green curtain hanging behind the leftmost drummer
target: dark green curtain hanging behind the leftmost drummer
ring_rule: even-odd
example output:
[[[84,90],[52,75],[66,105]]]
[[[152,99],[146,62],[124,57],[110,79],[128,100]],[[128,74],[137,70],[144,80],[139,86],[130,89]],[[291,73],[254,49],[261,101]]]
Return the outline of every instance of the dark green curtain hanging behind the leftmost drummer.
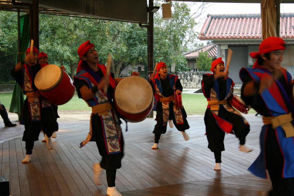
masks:
[[[28,48],[30,43],[30,15],[25,14],[20,17],[20,32],[21,32],[21,54],[19,62],[22,62],[25,59],[25,51]],[[18,58],[18,56],[17,56]],[[16,63],[17,63],[16,59]],[[18,120],[21,118],[22,108],[24,105],[25,99],[21,87],[15,82],[12,98],[10,102],[9,112],[17,113]]]

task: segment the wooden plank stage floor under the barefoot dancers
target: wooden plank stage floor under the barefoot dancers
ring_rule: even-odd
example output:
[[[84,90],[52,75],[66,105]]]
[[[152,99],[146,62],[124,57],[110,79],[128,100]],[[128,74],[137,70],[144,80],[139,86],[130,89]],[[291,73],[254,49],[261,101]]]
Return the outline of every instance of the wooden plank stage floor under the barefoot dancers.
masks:
[[[232,134],[226,135],[221,171],[213,170],[214,156],[207,148],[203,116],[187,118],[189,141],[185,141],[175,127],[168,127],[156,150],[151,149],[154,118],[128,123],[128,131],[123,132],[125,156],[122,168],[117,171],[117,189],[123,196],[253,196],[257,190],[270,190],[269,179],[258,178],[247,171],[260,152],[262,119],[254,115],[245,117],[251,125],[246,144],[254,150],[250,153],[239,151],[239,140]],[[58,123],[54,149],[47,149],[41,141],[41,133],[40,140],[35,142],[32,161],[23,164],[25,143],[21,139],[24,126],[4,127],[0,122],[0,174],[9,180],[10,194],[106,195],[105,172],[101,178],[103,185],[96,186],[92,180],[92,164],[101,158],[96,143],[89,142],[79,148],[89,132],[89,121]]]

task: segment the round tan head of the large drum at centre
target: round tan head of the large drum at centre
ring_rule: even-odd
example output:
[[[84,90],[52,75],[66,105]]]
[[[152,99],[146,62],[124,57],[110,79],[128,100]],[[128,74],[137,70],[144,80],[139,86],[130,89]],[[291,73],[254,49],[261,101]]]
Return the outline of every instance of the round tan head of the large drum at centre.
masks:
[[[153,90],[149,82],[139,76],[129,76],[118,83],[114,98],[117,106],[128,114],[140,114],[153,101]]]

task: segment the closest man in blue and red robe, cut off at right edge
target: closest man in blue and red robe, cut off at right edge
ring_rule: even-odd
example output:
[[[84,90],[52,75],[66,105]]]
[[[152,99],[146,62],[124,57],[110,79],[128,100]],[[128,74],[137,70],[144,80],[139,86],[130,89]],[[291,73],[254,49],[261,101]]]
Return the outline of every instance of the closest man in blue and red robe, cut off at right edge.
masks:
[[[249,168],[261,178],[267,177],[268,170],[273,190],[263,195],[294,195],[294,107],[290,98],[293,81],[291,74],[280,67],[285,49],[281,38],[268,37],[258,52],[250,53],[257,58],[253,68],[240,70],[241,97],[262,115],[264,123],[261,152]]]

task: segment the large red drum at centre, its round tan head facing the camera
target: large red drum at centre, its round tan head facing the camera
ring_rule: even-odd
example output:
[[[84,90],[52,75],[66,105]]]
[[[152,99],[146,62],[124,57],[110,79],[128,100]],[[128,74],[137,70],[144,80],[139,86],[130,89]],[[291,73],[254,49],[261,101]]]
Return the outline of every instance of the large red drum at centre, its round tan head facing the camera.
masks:
[[[116,85],[113,100],[115,109],[126,121],[140,122],[153,109],[153,90],[146,79],[130,76]]]

